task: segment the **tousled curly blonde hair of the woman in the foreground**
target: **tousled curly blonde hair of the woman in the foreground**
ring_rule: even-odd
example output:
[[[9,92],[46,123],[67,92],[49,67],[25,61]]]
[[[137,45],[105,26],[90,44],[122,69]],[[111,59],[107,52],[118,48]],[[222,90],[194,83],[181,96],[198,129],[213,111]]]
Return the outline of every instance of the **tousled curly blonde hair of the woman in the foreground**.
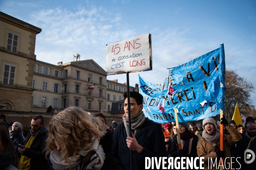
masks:
[[[90,116],[86,111],[77,107],[66,108],[53,116],[48,125],[49,136],[46,144],[46,157],[57,149],[56,142],[61,147],[60,160],[70,164],[68,159],[78,154],[82,148],[90,147],[93,136],[103,137],[106,130],[102,122]]]

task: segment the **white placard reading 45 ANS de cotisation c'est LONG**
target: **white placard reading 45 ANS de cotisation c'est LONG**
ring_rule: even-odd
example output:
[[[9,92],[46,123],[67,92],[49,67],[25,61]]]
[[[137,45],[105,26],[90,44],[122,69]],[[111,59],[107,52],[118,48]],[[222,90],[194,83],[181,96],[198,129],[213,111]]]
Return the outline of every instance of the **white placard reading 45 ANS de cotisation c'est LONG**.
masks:
[[[113,42],[106,47],[107,74],[146,71],[152,68],[151,34]]]

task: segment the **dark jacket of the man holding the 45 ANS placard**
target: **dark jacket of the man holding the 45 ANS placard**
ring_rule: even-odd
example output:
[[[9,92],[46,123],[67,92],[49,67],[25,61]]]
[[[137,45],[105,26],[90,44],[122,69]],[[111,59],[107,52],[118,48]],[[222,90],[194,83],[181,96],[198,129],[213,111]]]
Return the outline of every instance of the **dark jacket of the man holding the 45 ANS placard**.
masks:
[[[129,170],[130,150],[127,147],[126,138],[125,125],[121,123],[113,134],[113,156],[121,162],[124,170]],[[159,124],[145,119],[135,133],[135,138],[145,151],[142,156],[132,151],[132,170],[145,170],[145,157],[167,157],[162,127]],[[155,165],[154,168],[156,169]]]

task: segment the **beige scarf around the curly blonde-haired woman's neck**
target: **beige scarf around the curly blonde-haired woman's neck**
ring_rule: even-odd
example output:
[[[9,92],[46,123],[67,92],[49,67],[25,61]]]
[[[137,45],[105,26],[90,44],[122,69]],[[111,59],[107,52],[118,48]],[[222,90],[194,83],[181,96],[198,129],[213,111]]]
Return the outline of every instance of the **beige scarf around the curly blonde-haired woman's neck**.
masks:
[[[58,150],[52,150],[50,160],[54,170],[100,170],[103,166],[105,153],[103,148],[99,145],[100,138],[93,137],[90,149],[84,147],[78,152],[78,155],[71,156],[68,159],[71,164],[66,161],[60,161]],[[90,158],[89,158],[89,157]]]

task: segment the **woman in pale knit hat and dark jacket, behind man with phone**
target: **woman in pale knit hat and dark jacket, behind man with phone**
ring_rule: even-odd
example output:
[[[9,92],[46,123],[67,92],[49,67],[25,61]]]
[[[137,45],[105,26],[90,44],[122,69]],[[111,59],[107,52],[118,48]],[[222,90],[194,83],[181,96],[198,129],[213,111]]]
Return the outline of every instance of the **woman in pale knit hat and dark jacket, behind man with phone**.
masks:
[[[21,125],[20,122],[15,122],[12,124],[12,130],[9,131],[10,138],[12,139],[12,142],[14,144],[14,147],[16,149],[19,159],[20,159],[21,153],[19,153],[19,150],[18,150],[19,145],[18,144],[22,145],[24,142],[24,139],[22,136],[22,128],[23,128],[23,126]]]

